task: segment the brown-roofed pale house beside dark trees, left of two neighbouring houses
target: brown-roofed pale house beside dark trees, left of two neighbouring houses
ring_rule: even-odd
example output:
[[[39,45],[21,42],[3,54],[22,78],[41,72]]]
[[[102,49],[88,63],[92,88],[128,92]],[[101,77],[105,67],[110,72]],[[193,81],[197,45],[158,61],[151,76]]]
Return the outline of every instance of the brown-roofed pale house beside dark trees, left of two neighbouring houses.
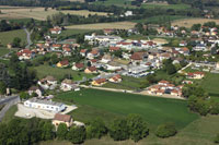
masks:
[[[57,81],[53,76],[46,76],[37,82],[38,85],[44,89],[55,89],[57,86]]]

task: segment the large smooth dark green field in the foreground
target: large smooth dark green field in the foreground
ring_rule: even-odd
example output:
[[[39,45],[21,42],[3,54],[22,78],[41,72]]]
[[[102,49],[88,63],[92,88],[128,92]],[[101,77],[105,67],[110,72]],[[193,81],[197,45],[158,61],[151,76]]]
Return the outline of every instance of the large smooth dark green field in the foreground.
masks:
[[[97,89],[82,89],[80,92],[64,93],[56,98],[59,100],[73,100],[81,106],[91,106],[95,109],[120,116],[138,113],[141,114],[151,126],[157,126],[164,122],[174,122],[178,129],[182,129],[198,119],[198,114],[188,111],[187,102],[184,100]],[[90,109],[85,109],[84,111],[89,112]],[[107,121],[114,120],[113,116],[112,118],[106,119],[101,113],[100,116],[92,113],[92,116],[93,118],[102,117]]]

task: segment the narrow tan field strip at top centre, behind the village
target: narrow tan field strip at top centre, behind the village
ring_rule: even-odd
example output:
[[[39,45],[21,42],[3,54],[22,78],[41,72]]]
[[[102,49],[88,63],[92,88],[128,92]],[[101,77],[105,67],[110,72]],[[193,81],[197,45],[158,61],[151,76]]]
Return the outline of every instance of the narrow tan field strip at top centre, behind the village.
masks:
[[[96,23],[96,24],[82,24],[71,25],[66,28],[74,29],[104,29],[104,28],[117,28],[117,29],[129,29],[136,25],[134,22],[114,22],[114,23]]]

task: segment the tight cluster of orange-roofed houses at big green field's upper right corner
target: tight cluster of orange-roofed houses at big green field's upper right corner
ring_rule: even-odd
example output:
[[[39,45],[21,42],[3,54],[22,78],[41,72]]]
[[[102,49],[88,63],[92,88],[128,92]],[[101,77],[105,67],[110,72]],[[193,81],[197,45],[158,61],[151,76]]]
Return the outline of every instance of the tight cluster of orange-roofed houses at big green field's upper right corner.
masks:
[[[147,93],[150,95],[171,95],[175,97],[182,97],[183,85],[181,86],[175,86],[174,84],[171,84],[168,81],[160,81],[158,84],[152,85],[147,88]]]

